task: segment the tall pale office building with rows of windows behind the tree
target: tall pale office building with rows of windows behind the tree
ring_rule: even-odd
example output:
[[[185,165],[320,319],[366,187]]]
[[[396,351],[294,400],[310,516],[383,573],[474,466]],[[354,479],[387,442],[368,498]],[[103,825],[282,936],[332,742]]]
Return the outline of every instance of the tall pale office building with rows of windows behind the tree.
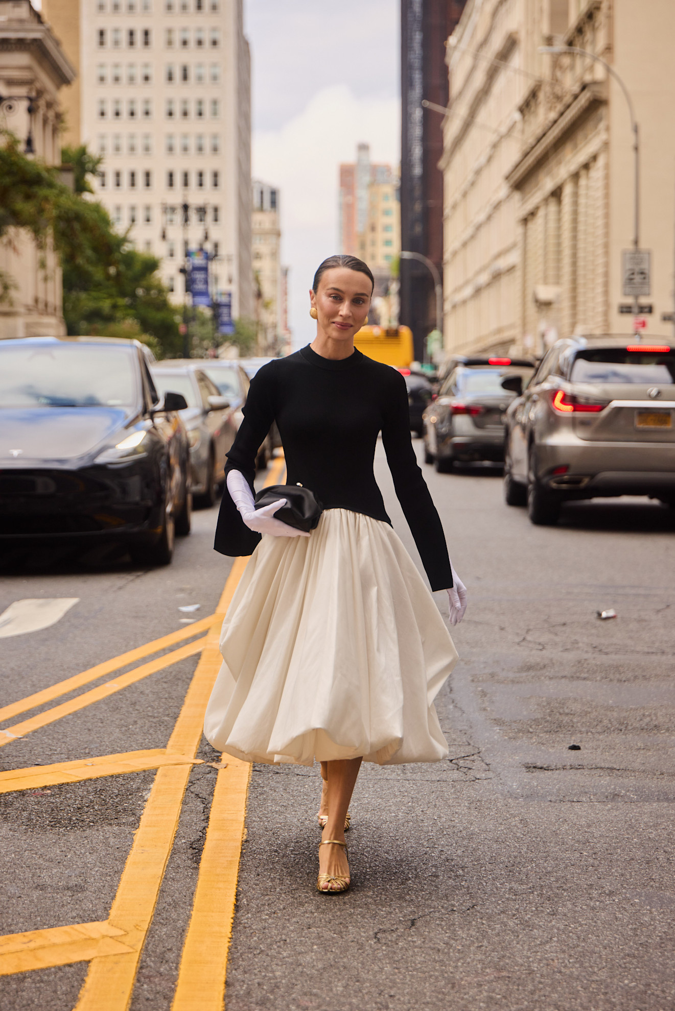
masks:
[[[79,73],[68,143],[102,157],[96,196],[162,260],[177,302],[186,250],[215,295],[253,314],[250,54],[243,0],[44,0]]]

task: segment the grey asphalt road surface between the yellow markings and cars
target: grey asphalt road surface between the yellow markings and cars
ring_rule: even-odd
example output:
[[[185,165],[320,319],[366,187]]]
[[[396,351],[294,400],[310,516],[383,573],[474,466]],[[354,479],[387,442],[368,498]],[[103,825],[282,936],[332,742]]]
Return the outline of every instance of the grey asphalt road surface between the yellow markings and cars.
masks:
[[[376,468],[417,558],[379,451]],[[437,701],[449,758],[364,766],[353,885],[336,897],[315,890],[318,769],[254,766],[228,1009],[672,1011],[675,515],[575,503],[559,527],[534,528],[503,504],[494,469],[424,470],[470,591]],[[210,614],[230,564],[210,550],[215,520],[195,514],[168,569],[15,558],[0,611],[80,601],[49,629],[0,640],[0,705],[172,632],[181,605]],[[618,617],[599,621],[606,608]],[[0,768],[163,747],[194,666],[17,740]],[[200,756],[215,757],[207,745]],[[153,775],[0,797],[2,934],[106,918]],[[191,773],[134,1011],[170,1008],[215,776]],[[0,1002],[70,1011],[86,970],[5,977]]]

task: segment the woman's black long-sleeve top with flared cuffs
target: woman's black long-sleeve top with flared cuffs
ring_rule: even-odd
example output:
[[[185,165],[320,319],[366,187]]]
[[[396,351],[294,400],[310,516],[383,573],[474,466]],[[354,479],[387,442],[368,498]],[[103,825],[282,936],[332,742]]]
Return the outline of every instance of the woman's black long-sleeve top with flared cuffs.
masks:
[[[440,518],[422,476],[410,437],[403,376],[359,351],[333,361],[309,346],[264,365],[251,381],[244,421],[228,453],[226,470],[240,470],[253,489],[255,459],[275,421],[285,455],[287,483],[310,488],[324,509],[344,509],[391,524],[372,464],[382,432],[387,462],[432,589],[452,585]],[[260,541],[226,488],[215,548],[248,555]]]

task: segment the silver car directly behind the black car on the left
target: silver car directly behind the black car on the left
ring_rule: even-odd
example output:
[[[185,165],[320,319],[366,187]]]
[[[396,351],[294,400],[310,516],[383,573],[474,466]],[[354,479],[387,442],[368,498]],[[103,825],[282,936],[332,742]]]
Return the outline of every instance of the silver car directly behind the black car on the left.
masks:
[[[195,505],[212,507],[218,486],[225,481],[226,453],[235,441],[236,408],[200,367],[201,362],[166,359],[152,367],[160,391],[175,390],[185,397],[181,419],[190,446],[192,494]]]

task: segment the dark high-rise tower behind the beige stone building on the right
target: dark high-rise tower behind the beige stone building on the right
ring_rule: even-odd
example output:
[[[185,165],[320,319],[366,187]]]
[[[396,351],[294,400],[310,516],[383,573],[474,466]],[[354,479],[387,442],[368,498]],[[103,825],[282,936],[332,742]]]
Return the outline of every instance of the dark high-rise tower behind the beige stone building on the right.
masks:
[[[443,154],[441,116],[422,107],[447,104],[445,41],[466,0],[401,0],[401,248],[421,253],[442,274]],[[401,323],[410,327],[415,354],[435,327],[433,279],[414,260],[401,262]]]

